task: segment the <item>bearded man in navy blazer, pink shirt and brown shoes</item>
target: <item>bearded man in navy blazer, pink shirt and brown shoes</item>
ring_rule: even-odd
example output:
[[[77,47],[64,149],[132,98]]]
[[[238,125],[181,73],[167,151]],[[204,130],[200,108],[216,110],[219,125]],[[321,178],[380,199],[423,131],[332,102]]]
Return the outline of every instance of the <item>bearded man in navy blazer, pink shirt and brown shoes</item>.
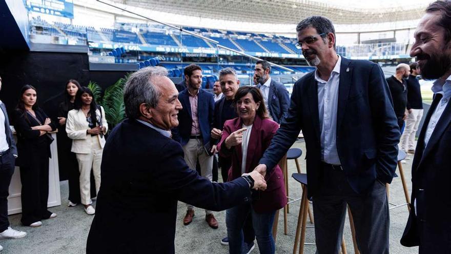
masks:
[[[199,161],[200,174],[212,181],[213,156],[210,152],[210,131],[213,128],[214,95],[201,89],[202,69],[200,66],[190,64],[185,68],[185,81],[187,89],[181,91],[178,100],[182,109],[178,112],[179,125],[173,130],[173,138],[178,141],[185,152],[185,161],[190,168],[196,168]],[[187,204],[187,214],[183,218],[183,224],[188,225],[193,221],[194,207]],[[213,213],[206,211],[208,225],[218,228]]]

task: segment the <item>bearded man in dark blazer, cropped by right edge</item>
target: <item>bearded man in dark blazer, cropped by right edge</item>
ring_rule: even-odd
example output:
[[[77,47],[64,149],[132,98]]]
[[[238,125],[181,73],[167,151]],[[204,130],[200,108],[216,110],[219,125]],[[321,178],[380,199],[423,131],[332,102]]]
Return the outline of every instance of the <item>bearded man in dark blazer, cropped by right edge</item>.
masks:
[[[430,4],[414,37],[410,54],[422,77],[436,81],[415,149],[413,205],[401,244],[419,246],[419,253],[451,253],[451,2]]]

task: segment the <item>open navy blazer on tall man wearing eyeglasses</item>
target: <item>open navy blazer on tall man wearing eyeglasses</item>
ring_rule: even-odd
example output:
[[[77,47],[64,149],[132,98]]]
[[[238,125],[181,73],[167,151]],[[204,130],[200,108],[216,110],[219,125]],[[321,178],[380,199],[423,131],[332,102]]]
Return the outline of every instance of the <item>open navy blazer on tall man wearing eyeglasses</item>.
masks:
[[[400,132],[381,68],[370,61],[341,58],[337,109],[337,151],[352,188],[363,192],[376,179],[391,183]],[[272,169],[302,130],[306,145],[309,197],[322,178],[318,85],[312,71],[299,79],[288,115],[260,163]]]

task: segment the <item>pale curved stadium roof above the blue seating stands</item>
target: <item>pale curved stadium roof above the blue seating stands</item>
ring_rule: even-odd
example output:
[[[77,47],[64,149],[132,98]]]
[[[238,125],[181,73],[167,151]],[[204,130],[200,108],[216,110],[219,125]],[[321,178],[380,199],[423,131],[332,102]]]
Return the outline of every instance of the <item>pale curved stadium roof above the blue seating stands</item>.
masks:
[[[297,24],[310,15],[329,17],[334,24],[374,24],[419,19],[431,1],[326,0],[111,0],[128,6],[224,21]]]

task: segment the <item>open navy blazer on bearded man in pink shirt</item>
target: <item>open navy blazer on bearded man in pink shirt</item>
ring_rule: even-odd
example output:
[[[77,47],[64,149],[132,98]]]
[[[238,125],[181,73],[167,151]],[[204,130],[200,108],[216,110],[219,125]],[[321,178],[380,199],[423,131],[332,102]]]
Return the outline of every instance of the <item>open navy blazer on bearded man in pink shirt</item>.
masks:
[[[178,100],[183,108],[178,111],[178,127],[172,130],[173,139],[182,146],[186,145],[190,140],[191,125],[193,124],[189,95],[188,89],[178,94]],[[210,143],[214,111],[215,99],[213,93],[200,89],[197,94],[197,118],[204,145]]]

